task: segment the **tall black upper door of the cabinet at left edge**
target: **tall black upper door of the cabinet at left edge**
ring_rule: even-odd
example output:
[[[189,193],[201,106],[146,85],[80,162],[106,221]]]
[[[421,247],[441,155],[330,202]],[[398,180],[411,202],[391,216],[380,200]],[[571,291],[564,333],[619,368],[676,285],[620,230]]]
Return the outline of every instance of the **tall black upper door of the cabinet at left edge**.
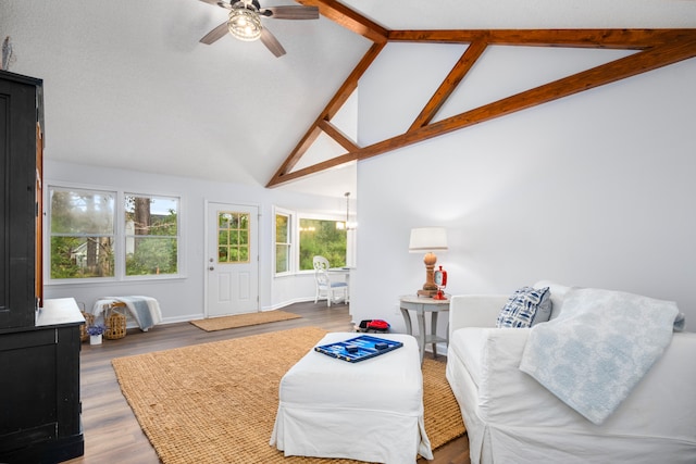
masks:
[[[34,326],[37,83],[0,72],[0,330]]]

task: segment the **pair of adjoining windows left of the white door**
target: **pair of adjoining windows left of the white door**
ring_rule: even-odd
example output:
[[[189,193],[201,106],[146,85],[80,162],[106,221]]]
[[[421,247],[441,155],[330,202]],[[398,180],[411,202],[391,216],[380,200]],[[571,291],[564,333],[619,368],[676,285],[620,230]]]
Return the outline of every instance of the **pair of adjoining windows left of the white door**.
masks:
[[[55,186],[48,195],[51,280],[178,275],[178,198]]]

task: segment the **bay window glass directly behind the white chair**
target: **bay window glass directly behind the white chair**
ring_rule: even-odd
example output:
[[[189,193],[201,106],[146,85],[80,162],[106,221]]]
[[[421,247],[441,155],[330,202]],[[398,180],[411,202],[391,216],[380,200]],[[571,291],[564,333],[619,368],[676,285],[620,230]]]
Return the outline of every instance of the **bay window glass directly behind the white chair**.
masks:
[[[344,223],[331,220],[300,217],[299,269],[313,269],[312,260],[320,254],[332,267],[346,265],[346,229]]]

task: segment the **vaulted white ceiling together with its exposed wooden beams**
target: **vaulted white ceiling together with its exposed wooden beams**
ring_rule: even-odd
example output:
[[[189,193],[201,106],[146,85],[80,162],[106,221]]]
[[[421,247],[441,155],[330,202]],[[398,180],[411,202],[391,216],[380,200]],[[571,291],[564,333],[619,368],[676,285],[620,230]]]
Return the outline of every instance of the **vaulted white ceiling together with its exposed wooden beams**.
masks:
[[[693,57],[696,47],[693,32],[510,32],[694,28],[693,0],[299,2],[319,5],[321,18],[263,20],[287,50],[279,59],[261,42],[229,36],[211,46],[199,43],[225,20],[225,11],[198,0],[4,0],[0,36],[11,37],[10,71],[45,79],[49,160],[282,185],[335,197],[355,191],[356,160]],[[281,4],[294,3],[262,2]],[[359,147],[333,124],[339,103],[385,43],[418,40],[471,45],[405,134]],[[438,106],[487,46],[530,40],[644,51],[433,123]],[[340,146],[344,158],[299,163],[318,134]]]

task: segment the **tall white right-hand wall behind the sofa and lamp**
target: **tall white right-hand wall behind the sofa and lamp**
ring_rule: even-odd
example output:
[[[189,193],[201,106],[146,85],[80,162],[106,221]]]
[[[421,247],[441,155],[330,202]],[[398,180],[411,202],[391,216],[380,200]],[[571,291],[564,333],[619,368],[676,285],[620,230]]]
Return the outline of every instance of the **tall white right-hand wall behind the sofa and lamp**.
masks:
[[[375,123],[393,121],[388,110],[410,123],[398,90],[426,101],[427,81],[413,75],[421,57],[389,47],[360,83],[361,143],[398,133]],[[520,72],[554,74],[557,63]],[[502,64],[490,85],[515,78]],[[360,162],[353,317],[402,330],[398,297],[424,281],[409,231],[445,226],[447,292],[509,294],[548,278],[674,300],[696,330],[695,81],[692,59]]]

